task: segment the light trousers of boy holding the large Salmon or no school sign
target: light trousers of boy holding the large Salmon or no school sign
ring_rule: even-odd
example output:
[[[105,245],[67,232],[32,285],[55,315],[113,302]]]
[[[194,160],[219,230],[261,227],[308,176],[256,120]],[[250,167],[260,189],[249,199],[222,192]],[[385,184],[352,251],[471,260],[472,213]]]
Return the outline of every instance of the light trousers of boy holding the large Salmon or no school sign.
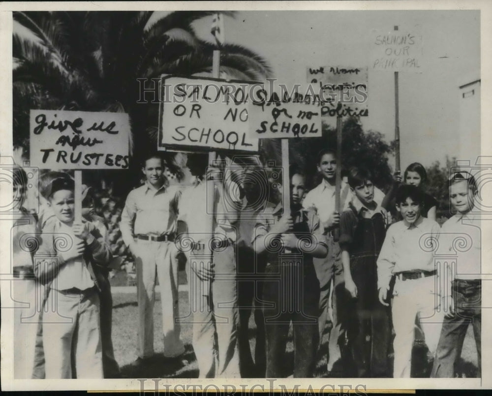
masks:
[[[194,251],[188,263],[203,251]],[[203,260],[203,259],[202,259]],[[202,282],[188,267],[189,300],[193,314],[193,349],[199,378],[240,378],[236,255],[228,246],[214,252],[212,293],[203,296]]]

